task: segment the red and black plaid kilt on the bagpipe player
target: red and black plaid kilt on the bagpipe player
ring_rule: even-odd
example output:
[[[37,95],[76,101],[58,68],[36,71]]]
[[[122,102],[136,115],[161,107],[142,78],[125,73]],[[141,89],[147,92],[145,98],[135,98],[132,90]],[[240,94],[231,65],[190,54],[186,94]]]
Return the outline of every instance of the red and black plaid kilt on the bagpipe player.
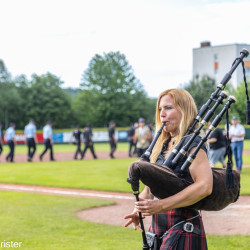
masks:
[[[178,222],[192,218],[198,212],[189,208],[177,208],[163,211],[152,217],[150,232],[161,237],[167,230],[176,225]],[[168,234],[162,238],[160,249],[171,250],[207,250],[206,235],[203,227],[201,216],[189,220],[194,227],[199,228],[201,234],[188,233],[183,230],[184,223],[172,228]]]

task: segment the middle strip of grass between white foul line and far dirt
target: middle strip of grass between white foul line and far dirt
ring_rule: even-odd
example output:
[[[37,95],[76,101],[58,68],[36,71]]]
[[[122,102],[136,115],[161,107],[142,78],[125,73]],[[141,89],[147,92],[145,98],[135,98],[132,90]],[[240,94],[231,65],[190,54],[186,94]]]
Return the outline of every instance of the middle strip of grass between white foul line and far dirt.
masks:
[[[0,165],[0,182],[131,192],[126,179],[128,166],[134,160],[136,158],[4,163]],[[241,173],[242,195],[250,195],[249,179],[250,168],[244,168]]]

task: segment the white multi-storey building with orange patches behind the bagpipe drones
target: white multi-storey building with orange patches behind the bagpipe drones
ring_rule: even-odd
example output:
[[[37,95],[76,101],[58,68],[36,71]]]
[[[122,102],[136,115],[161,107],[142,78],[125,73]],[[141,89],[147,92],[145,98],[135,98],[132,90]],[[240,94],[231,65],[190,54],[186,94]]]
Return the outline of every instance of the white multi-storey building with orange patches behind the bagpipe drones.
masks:
[[[232,67],[234,60],[245,48],[250,52],[250,44],[228,44],[211,46],[210,42],[201,42],[200,48],[193,49],[193,78],[197,75],[208,75],[220,83]],[[247,80],[250,81],[250,55],[244,59]],[[232,74],[229,82],[236,88],[243,81],[243,70],[240,64]]]

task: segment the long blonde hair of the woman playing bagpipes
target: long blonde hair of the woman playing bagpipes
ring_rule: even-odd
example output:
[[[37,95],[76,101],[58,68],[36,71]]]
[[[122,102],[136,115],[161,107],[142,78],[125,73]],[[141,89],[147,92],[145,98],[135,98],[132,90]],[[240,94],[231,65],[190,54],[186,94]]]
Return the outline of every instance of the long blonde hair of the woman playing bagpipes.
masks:
[[[185,135],[188,128],[192,125],[194,118],[197,116],[197,108],[194,102],[193,97],[184,89],[168,89],[162,92],[157,100],[156,105],[156,113],[155,113],[155,125],[156,125],[156,131],[159,130],[159,128],[162,125],[161,119],[160,119],[160,111],[159,111],[159,105],[161,98],[165,95],[170,95],[173,98],[174,106],[177,110],[181,112],[181,122],[179,125],[179,134],[176,136],[176,141],[174,147],[180,142],[182,137]],[[198,124],[196,125],[196,127]],[[162,130],[161,135],[159,136],[154,149],[152,151],[150,161],[156,162],[159,154],[161,153],[163,143],[170,137],[170,133],[165,132],[164,129]],[[171,148],[173,149],[173,148]],[[169,150],[171,151],[171,150]],[[170,152],[169,152],[170,153]],[[168,153],[168,154],[169,154]],[[165,156],[167,157],[168,154]]]

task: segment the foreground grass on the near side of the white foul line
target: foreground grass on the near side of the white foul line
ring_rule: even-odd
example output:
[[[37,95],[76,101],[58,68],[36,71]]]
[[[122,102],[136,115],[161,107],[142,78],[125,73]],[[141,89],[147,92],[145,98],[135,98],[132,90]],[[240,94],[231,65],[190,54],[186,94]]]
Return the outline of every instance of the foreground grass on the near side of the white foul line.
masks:
[[[27,250],[141,249],[141,233],[122,226],[80,220],[79,210],[109,201],[19,192],[0,192],[0,242],[22,242]],[[97,214],[98,216],[98,214]],[[208,235],[211,250],[245,250],[249,236]]]

